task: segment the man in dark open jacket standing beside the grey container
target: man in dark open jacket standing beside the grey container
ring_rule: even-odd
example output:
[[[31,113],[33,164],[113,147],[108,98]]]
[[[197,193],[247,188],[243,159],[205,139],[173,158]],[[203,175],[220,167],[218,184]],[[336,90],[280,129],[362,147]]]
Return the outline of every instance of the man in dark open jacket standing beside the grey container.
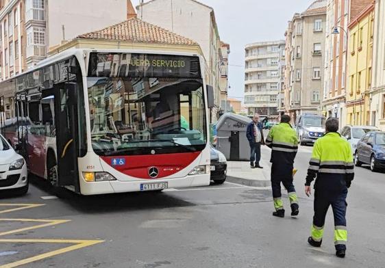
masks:
[[[264,145],[264,137],[262,131],[262,124],[260,121],[260,115],[254,114],[253,121],[247,125],[246,137],[250,144],[250,167],[251,168],[263,168],[260,165],[261,159],[261,145]]]

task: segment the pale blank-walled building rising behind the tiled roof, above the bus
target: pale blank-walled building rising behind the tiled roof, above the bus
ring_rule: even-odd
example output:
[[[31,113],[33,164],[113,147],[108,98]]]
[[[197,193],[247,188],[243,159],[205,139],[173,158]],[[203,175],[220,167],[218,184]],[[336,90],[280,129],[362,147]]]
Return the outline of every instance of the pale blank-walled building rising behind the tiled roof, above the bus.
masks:
[[[221,40],[214,10],[195,0],[151,0],[136,7],[138,18],[195,40],[206,59],[206,81],[214,88],[210,121],[221,109]]]

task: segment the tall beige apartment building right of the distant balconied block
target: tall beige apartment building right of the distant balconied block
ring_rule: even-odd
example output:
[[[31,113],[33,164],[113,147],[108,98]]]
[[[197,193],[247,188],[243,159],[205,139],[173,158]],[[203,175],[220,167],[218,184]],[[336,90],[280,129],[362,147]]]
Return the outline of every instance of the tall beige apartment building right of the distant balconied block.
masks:
[[[309,8],[293,16],[288,23],[286,39],[285,88],[286,111],[293,122],[303,113],[321,113],[323,92],[326,0],[314,1]],[[289,68],[289,67],[288,67]]]

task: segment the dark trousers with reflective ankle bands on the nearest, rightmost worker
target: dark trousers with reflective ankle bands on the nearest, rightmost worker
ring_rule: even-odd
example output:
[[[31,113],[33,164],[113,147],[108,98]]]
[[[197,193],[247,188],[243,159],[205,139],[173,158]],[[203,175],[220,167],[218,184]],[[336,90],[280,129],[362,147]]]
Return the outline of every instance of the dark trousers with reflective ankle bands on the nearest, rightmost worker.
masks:
[[[332,206],[334,215],[334,245],[346,250],[347,187],[341,174],[319,174],[314,185],[313,225],[323,231],[327,209]],[[323,233],[323,232],[322,232]]]

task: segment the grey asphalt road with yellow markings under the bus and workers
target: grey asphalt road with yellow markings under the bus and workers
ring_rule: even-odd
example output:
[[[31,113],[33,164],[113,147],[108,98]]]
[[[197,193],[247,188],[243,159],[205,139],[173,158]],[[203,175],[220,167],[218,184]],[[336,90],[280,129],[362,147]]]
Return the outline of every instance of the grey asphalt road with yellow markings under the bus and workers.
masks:
[[[311,150],[301,148],[295,163],[297,219],[271,215],[268,189],[231,183],[55,198],[35,179],[27,196],[0,198],[0,268],[32,260],[22,267],[385,267],[385,174],[365,167],[349,190],[347,257],[334,256],[331,210],[323,246],[307,245],[312,197],[303,183]]]

